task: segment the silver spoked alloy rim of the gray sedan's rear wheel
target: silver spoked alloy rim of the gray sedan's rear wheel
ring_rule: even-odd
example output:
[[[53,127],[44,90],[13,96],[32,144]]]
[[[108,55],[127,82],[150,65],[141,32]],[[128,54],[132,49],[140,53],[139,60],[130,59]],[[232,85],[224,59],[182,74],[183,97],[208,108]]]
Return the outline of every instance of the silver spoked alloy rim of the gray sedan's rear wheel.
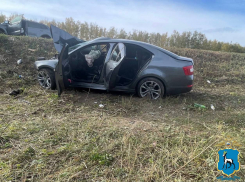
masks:
[[[161,96],[162,90],[160,85],[155,81],[146,81],[140,86],[140,96],[149,95],[151,99],[158,99]]]

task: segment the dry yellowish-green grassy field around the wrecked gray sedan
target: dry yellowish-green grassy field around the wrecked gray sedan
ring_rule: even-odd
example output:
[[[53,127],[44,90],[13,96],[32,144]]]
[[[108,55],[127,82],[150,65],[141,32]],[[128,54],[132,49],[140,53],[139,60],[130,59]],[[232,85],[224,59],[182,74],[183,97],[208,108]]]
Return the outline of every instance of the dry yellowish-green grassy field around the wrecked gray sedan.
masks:
[[[79,89],[58,98],[33,70],[35,57],[55,53],[52,42],[0,36],[0,181],[216,181],[227,137],[241,144],[235,175],[244,181],[245,55],[168,50],[194,59],[190,93],[152,101]]]

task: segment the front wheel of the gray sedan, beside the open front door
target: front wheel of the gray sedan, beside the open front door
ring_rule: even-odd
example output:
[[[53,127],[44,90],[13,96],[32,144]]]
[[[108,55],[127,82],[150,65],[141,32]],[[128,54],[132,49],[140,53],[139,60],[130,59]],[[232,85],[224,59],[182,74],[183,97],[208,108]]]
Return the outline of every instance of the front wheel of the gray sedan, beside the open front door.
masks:
[[[37,80],[44,89],[54,90],[56,88],[54,71],[42,68],[38,71]]]

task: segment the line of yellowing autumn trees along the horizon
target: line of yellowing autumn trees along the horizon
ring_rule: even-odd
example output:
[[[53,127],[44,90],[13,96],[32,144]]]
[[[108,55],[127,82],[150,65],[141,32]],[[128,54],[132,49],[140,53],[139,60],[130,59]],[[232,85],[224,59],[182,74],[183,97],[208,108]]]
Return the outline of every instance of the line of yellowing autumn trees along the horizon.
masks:
[[[17,16],[17,14],[12,14],[9,17],[1,14],[0,22],[3,22],[5,19],[11,20],[15,16]],[[59,22],[55,20],[41,20],[39,22],[48,26],[50,26],[50,24],[53,24],[69,32],[71,35],[86,41],[95,39],[97,37],[110,37],[147,42],[163,48],[177,47],[245,53],[245,47],[241,46],[238,43],[208,40],[205,34],[197,31],[185,31],[179,33],[178,31],[174,30],[172,34],[155,32],[149,33],[140,30],[126,32],[124,29],[118,30],[115,27],[107,29],[97,25],[96,23],[75,21],[72,17],[66,18],[64,22]]]

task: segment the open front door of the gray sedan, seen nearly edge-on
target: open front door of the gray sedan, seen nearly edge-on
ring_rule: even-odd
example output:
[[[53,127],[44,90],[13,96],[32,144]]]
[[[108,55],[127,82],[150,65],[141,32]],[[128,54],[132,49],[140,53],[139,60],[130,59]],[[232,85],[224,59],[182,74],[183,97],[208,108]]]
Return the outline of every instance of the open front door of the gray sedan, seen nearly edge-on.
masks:
[[[60,96],[61,93],[66,88],[66,84],[64,83],[63,65],[66,64],[65,61],[67,60],[67,57],[68,57],[68,44],[65,44],[58,57],[58,64],[55,67],[55,81],[58,90],[58,96]]]

